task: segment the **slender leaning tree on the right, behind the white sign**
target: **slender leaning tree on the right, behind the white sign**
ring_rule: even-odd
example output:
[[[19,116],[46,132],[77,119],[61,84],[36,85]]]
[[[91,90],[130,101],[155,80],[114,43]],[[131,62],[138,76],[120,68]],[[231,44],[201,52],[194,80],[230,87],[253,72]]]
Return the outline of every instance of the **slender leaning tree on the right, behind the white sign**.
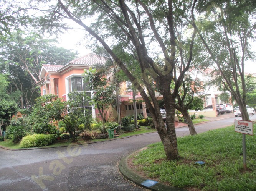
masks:
[[[192,15],[191,22],[206,47],[201,53],[211,63],[215,84],[223,84],[231,93],[246,121],[250,119],[244,62],[255,58],[249,44],[256,35],[255,16],[253,0],[198,0],[197,14]]]

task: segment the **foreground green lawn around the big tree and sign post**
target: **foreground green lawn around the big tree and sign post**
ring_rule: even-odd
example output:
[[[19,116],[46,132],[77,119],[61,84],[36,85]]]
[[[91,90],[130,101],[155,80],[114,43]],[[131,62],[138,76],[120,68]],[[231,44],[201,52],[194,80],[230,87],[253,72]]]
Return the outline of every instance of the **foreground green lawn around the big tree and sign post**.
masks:
[[[178,188],[256,190],[255,142],[255,136],[246,136],[247,171],[243,170],[242,134],[234,126],[178,138],[178,161],[166,160],[162,143],[156,143],[135,155],[133,163],[148,178]],[[196,165],[198,160],[206,164]]]

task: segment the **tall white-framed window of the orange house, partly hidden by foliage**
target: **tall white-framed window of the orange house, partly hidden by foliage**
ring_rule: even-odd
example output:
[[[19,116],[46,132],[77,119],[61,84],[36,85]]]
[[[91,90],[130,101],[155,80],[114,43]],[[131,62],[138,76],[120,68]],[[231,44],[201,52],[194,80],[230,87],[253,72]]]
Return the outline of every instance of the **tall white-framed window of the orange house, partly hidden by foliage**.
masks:
[[[86,92],[88,97],[91,97],[91,90],[88,87],[88,83],[84,82],[83,77],[72,77],[68,79],[69,92],[78,91]],[[89,102],[84,99],[84,102],[80,104],[81,108],[84,108],[84,112],[92,114],[92,107]],[[87,113],[86,112],[86,113]]]

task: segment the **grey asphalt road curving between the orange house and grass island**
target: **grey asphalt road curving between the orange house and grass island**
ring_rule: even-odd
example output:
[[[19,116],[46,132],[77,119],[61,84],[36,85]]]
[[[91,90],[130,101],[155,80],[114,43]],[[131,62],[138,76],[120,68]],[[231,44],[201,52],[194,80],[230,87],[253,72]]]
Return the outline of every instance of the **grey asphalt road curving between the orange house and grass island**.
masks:
[[[256,115],[250,116],[256,120]],[[231,117],[195,126],[198,133],[234,124]],[[187,127],[177,136],[189,134]],[[8,151],[0,149],[0,190],[144,190],[126,180],[118,162],[133,151],[159,142],[149,133],[94,144]]]

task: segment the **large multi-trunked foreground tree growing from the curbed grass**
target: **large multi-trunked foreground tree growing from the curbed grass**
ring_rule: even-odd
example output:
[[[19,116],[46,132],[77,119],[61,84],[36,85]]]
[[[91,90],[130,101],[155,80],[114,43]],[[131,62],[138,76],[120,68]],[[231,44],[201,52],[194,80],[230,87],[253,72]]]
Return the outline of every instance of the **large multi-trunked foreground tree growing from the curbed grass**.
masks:
[[[180,1],[179,1],[180,2]],[[193,6],[185,6],[188,13]],[[72,10],[72,12],[71,12]],[[154,121],[157,132],[163,142],[165,154],[168,160],[178,159],[177,138],[174,126],[174,100],[182,83],[185,72],[188,70],[191,58],[195,31],[187,37],[186,42],[190,44],[190,59],[182,66],[182,72],[177,76],[175,89],[171,92],[170,84],[174,78],[173,71],[176,62],[176,34],[175,17],[180,13],[175,12],[173,0],[145,2],[135,1],[104,1],[88,0],[77,2],[73,0],[58,0],[56,5],[47,10],[45,21],[50,18],[69,18],[82,26],[89,34],[99,42],[111,55],[116,64],[124,71],[130,81],[139,90]],[[83,22],[84,18],[93,16],[95,23],[89,27]],[[41,17],[43,18],[43,17]],[[41,20],[42,21],[42,20]],[[56,20],[55,20],[56,21]],[[122,57],[116,55],[112,45],[118,41],[126,42],[127,46],[122,51],[134,54],[142,73],[141,79],[145,84],[147,92],[142,88],[139,80],[135,78],[132,70],[128,70],[127,63]],[[160,62],[155,62],[155,59]],[[166,108],[165,128],[160,108],[155,97],[155,87],[158,87],[163,95]]]

